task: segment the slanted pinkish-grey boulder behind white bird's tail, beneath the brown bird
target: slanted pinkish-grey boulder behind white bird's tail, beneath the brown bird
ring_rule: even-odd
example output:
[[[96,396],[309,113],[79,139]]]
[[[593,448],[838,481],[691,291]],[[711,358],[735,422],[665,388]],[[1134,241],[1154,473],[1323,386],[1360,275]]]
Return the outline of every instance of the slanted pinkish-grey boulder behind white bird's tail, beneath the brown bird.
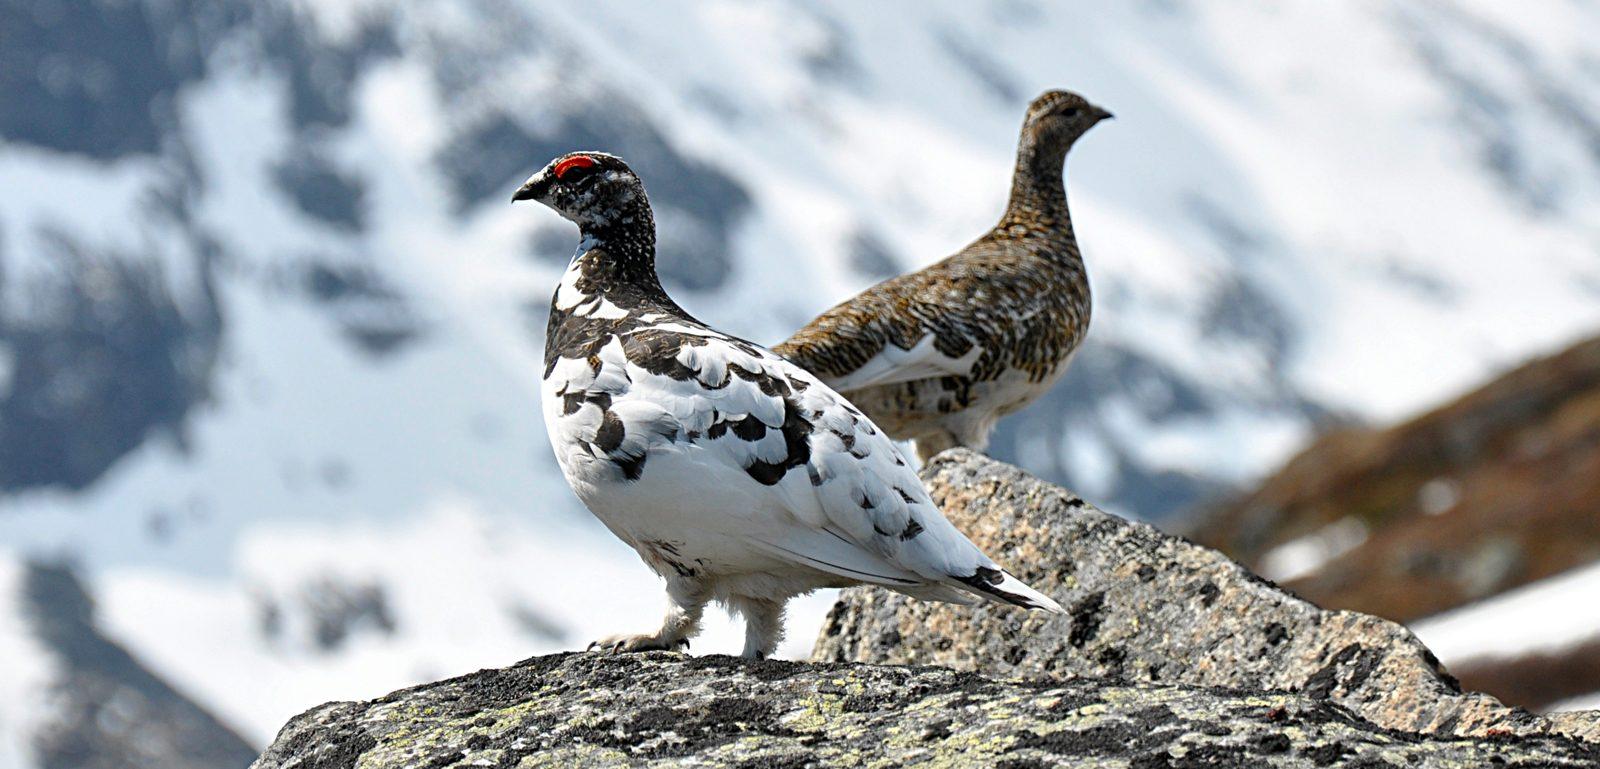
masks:
[[[1318,609],[1214,550],[1102,513],[1011,465],[957,449],[934,457],[923,480],[962,531],[1069,614],[856,588],[830,612],[813,660],[1285,691],[1408,732],[1600,742],[1594,713],[1552,721],[1461,692],[1406,628]]]

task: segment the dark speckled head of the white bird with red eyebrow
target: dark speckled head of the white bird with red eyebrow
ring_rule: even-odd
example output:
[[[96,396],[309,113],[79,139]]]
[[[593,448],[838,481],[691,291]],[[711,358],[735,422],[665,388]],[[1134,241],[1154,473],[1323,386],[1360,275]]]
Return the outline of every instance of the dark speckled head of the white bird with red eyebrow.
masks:
[[[552,160],[510,200],[538,200],[579,229],[627,224],[640,206],[650,206],[634,169],[605,152],[568,152]]]

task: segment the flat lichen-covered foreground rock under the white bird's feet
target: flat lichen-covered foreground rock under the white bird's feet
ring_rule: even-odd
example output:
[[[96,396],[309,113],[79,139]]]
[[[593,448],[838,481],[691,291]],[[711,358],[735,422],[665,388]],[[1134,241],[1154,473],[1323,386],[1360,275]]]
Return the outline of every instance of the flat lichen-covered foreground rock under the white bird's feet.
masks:
[[[1592,767],[1570,737],[1424,737],[1323,699],[944,668],[558,654],[314,708],[254,769]]]

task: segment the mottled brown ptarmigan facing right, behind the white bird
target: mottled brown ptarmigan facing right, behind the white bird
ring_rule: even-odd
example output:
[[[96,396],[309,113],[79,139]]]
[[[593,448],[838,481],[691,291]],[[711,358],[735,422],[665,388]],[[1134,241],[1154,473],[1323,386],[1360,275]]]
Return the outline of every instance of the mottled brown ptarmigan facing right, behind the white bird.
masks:
[[[1043,395],[1090,326],[1067,214],[1067,150],[1112,114],[1072,91],[1027,107],[1000,222],[954,256],[816,317],[773,347],[843,393],[922,462],[989,448],[1000,417]]]

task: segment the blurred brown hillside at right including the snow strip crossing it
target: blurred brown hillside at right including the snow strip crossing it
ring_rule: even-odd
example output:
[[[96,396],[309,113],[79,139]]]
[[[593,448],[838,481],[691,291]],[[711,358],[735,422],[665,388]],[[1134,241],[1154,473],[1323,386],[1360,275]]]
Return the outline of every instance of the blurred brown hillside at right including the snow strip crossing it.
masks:
[[[1536,710],[1592,699],[1600,339],[1325,435],[1190,534],[1318,604],[1414,620],[1467,689]]]

